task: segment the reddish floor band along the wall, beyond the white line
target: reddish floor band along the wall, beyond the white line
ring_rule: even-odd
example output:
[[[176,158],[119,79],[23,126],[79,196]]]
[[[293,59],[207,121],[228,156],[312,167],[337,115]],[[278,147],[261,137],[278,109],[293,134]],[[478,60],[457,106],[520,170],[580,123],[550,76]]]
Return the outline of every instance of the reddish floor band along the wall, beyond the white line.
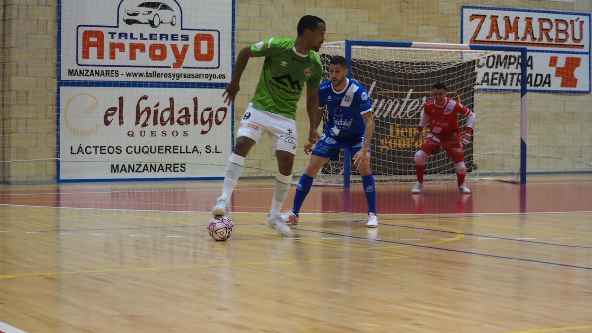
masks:
[[[12,188],[0,191],[0,203],[47,207],[99,209],[205,211],[211,209],[220,186],[55,188],[34,191]],[[422,194],[411,195],[410,183],[377,184],[379,213],[516,213],[578,212],[592,210],[590,182],[546,181],[528,185],[497,181],[471,182],[472,193],[460,194],[454,182],[426,182]],[[273,196],[271,182],[237,187],[233,194],[235,212],[267,212]],[[291,207],[292,187],[284,208]],[[313,187],[304,203],[304,213],[365,213],[366,199],[360,184],[343,187]]]

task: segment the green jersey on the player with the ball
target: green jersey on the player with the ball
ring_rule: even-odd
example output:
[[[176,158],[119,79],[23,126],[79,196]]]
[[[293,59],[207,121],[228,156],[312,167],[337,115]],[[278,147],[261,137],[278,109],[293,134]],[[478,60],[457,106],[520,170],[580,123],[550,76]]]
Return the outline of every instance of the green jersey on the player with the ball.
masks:
[[[265,57],[259,83],[251,102],[253,107],[296,119],[298,100],[304,83],[317,89],[323,65],[313,50],[301,55],[293,39],[272,38],[251,46],[256,57]]]

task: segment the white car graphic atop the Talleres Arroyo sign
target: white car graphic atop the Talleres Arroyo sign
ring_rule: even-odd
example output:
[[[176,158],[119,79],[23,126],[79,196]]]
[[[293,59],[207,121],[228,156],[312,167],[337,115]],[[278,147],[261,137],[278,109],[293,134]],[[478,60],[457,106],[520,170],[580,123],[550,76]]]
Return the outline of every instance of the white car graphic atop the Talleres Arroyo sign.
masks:
[[[177,24],[177,17],[172,8],[162,2],[143,2],[137,7],[127,9],[123,16],[123,21],[132,25],[134,23],[150,24],[156,28],[161,23]]]

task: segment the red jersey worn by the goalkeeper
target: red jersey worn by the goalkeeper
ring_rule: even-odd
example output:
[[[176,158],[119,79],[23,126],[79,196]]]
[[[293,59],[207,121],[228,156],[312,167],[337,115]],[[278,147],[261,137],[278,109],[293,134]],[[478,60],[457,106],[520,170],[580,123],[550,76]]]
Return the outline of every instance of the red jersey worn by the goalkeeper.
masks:
[[[423,112],[429,117],[430,132],[441,140],[452,139],[455,136],[460,137],[461,127],[458,125],[458,115],[469,116],[469,110],[461,102],[446,98],[446,103],[442,106],[436,105],[435,100],[428,100],[424,106]]]

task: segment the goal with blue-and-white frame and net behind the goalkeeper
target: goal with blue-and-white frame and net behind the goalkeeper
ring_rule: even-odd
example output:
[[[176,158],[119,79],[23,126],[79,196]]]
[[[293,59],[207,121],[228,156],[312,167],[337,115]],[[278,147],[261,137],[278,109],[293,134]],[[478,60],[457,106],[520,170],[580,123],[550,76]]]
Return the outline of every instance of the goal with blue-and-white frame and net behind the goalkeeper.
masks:
[[[377,123],[371,144],[377,180],[414,180],[413,155],[421,142],[412,144],[411,137],[423,104],[431,98],[431,86],[441,81],[448,85],[449,97],[477,116],[474,137],[465,148],[467,176],[526,184],[527,80],[521,79],[527,78],[526,47],[346,40],[326,43],[320,53],[324,66],[333,55],[345,56],[348,77],[368,91]],[[519,73],[496,78],[511,80],[511,89],[482,84],[490,82],[479,71],[487,62],[516,66]],[[459,120],[464,129],[464,119]],[[341,161],[323,168],[320,183],[342,180],[349,187],[354,170],[344,161],[351,161],[348,149]],[[444,152],[430,156],[427,163],[427,179],[454,179],[453,164]]]

